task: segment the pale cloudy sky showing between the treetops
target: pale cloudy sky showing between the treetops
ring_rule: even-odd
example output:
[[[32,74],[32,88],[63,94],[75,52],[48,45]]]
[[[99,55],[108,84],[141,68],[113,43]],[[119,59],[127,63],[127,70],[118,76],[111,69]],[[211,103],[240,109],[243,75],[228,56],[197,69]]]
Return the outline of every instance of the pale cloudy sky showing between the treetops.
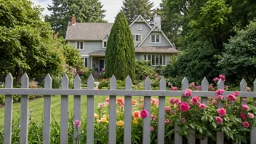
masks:
[[[43,15],[50,15],[51,12],[47,10],[47,6],[52,5],[52,0],[31,0],[34,4],[40,5],[44,8]],[[100,0],[103,4],[103,9],[106,10],[105,12],[105,20],[108,20],[108,23],[113,23],[115,20],[115,17],[121,7],[123,6],[122,0]],[[151,0],[153,1],[154,7],[159,7],[159,4],[161,0]]]

